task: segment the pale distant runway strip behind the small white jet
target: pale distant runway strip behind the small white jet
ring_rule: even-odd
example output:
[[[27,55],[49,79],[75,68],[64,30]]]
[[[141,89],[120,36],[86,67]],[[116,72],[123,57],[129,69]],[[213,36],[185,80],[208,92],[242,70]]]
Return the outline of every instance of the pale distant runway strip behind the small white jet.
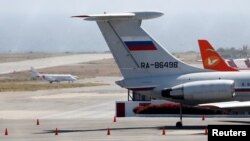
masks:
[[[41,69],[108,58],[112,58],[112,55],[108,53],[93,53],[0,63],[0,74],[29,70],[31,66]]]

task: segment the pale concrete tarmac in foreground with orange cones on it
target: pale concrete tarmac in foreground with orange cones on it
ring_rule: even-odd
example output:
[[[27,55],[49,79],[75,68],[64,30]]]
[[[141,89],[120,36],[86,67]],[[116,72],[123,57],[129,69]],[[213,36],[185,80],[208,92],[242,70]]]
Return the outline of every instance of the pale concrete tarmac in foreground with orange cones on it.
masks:
[[[177,117],[117,118],[115,101],[126,100],[126,90],[115,85],[121,77],[98,77],[81,81],[107,85],[0,93],[0,140],[171,140],[206,141],[208,124],[250,124],[249,118],[184,118],[184,128],[175,127]],[[36,125],[39,119],[40,125]],[[4,135],[5,128],[8,135]],[[55,129],[58,128],[58,135]],[[111,135],[107,135],[110,128]],[[162,135],[166,128],[166,135]]]

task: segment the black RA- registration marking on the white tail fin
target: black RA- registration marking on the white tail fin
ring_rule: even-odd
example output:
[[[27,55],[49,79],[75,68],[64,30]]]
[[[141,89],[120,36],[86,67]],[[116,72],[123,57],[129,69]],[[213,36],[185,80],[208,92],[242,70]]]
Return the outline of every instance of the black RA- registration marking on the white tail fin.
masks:
[[[178,68],[178,62],[141,62],[140,67],[142,69],[146,68]]]

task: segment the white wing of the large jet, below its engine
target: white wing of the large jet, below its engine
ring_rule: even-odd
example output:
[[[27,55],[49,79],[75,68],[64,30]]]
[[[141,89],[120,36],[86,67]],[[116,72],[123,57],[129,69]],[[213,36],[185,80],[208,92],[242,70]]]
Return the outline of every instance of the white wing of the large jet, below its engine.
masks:
[[[250,108],[250,101],[230,101],[230,102],[217,102],[199,104],[198,107],[202,108],[219,108],[219,109],[232,109],[232,108]]]

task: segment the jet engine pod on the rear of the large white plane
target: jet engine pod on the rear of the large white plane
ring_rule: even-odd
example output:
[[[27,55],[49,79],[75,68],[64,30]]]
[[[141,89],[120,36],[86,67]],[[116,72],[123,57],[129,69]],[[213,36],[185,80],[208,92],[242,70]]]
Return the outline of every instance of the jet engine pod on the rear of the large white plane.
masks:
[[[166,98],[192,101],[221,101],[235,96],[233,80],[187,82],[161,91]]]

